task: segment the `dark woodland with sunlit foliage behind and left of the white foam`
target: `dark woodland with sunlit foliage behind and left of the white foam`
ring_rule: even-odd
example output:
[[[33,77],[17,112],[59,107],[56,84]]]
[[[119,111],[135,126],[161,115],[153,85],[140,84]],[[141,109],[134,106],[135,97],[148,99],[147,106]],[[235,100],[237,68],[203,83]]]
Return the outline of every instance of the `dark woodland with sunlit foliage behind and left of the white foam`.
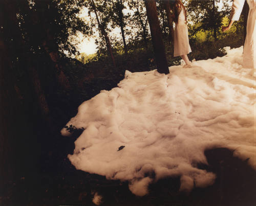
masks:
[[[220,1],[222,10],[218,10]],[[221,26],[228,22],[229,2],[184,2],[193,51],[188,55],[190,60],[223,56],[223,47],[243,45],[248,5],[245,4],[240,20],[232,29],[222,33]],[[59,131],[76,115],[83,101],[102,89],[117,86],[125,70],[150,71],[180,64],[180,57],[173,57],[169,3],[167,0],[0,2],[0,203],[80,203],[90,196],[90,192],[81,194],[81,187],[93,188],[98,181],[108,181],[75,171],[66,156],[72,153],[79,130],[75,129],[72,138],[60,136]],[[97,18],[91,16],[90,21],[83,21],[79,17],[83,7],[88,8],[89,14],[97,14]],[[124,14],[125,8],[133,10],[133,14]],[[154,15],[159,21],[152,21]],[[158,38],[152,35],[149,21]],[[120,28],[120,38],[110,35],[116,27]],[[78,52],[78,42],[73,37],[77,32],[85,37],[99,33],[95,40],[96,54]],[[159,65],[159,54],[164,54],[160,56],[166,58],[166,65]],[[119,183],[111,184],[119,187]],[[61,197],[56,195],[57,190],[62,191]]]

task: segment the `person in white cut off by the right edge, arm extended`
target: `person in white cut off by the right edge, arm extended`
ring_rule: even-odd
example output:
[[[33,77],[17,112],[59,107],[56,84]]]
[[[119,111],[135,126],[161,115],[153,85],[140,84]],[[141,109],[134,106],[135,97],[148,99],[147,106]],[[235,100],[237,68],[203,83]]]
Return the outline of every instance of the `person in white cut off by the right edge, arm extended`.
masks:
[[[229,24],[227,27],[222,27],[222,31],[227,31],[231,28],[233,21],[239,20],[240,14],[243,10],[245,0],[233,0],[233,5],[229,17]],[[256,68],[256,0],[247,0],[249,5],[249,14],[246,28],[246,38],[244,42],[243,52],[243,67]]]

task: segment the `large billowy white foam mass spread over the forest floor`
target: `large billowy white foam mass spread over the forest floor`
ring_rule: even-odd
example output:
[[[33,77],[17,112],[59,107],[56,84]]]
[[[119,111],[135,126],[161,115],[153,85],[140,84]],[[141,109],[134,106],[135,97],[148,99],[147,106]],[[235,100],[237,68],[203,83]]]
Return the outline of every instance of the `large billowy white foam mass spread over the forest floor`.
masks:
[[[169,176],[180,176],[185,192],[213,184],[216,175],[195,163],[207,164],[204,151],[214,147],[235,150],[256,169],[254,71],[242,67],[242,47],[225,49],[192,68],[171,66],[168,75],[126,71],[118,87],[83,102],[67,123],[86,128],[71,163],[127,180],[139,196]]]

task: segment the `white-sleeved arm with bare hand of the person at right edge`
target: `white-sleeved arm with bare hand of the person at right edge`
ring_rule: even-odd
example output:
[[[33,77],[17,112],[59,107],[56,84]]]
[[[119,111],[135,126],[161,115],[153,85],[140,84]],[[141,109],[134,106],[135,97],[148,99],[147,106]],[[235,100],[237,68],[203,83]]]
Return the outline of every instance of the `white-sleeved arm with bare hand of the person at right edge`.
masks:
[[[229,30],[234,21],[238,21],[243,10],[245,0],[233,0],[232,9],[229,17],[229,23],[227,27],[222,27],[222,31]]]

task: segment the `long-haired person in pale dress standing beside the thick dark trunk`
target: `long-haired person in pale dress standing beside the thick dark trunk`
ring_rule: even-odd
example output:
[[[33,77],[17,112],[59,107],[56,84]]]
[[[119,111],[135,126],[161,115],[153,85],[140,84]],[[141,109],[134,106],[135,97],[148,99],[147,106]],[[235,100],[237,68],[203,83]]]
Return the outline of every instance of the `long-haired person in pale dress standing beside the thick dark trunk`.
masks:
[[[186,9],[180,0],[175,0],[172,5],[173,17],[175,21],[174,30],[174,56],[181,56],[185,61],[185,67],[190,67],[187,54],[191,52],[188,40]]]

